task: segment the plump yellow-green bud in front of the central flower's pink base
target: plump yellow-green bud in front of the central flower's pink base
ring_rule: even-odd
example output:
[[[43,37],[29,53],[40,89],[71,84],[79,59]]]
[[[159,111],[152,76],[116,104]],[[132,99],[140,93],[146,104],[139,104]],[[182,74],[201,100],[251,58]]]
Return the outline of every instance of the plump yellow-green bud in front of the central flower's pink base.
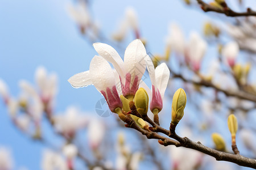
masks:
[[[146,115],[148,110],[148,95],[144,88],[139,88],[134,96],[134,104],[141,115]]]

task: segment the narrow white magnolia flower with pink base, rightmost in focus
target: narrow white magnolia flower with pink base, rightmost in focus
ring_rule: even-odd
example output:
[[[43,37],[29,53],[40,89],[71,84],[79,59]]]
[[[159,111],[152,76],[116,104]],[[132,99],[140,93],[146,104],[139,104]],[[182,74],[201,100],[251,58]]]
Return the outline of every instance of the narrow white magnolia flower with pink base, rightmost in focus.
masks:
[[[154,109],[158,109],[158,112],[160,112],[163,108],[163,97],[170,77],[170,70],[166,63],[161,63],[155,68],[148,55],[145,57],[145,61],[152,83],[150,111],[153,112]]]

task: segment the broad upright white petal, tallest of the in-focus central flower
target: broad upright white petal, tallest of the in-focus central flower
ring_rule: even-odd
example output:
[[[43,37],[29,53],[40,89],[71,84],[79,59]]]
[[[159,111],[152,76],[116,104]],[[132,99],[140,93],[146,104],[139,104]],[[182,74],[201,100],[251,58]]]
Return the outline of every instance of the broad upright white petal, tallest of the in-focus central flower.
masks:
[[[133,76],[137,75],[139,80],[146,70],[146,49],[141,40],[132,41],[125,50],[125,71]]]

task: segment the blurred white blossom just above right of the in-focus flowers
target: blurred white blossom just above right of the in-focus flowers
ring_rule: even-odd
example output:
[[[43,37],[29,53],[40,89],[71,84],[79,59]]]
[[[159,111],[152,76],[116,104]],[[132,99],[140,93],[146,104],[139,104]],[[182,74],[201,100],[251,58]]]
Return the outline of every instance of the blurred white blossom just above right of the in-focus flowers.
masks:
[[[180,56],[184,55],[185,38],[184,33],[176,23],[171,23],[166,37],[167,48],[171,48]]]

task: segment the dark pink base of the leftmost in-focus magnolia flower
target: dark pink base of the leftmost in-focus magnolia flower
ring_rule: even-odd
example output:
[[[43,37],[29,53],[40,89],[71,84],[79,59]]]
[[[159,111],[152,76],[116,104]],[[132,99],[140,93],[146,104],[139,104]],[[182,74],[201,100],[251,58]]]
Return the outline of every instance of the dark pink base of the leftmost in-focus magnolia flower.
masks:
[[[112,87],[112,90],[107,87],[106,91],[101,91],[101,94],[105,97],[110,111],[114,112],[116,108],[122,108],[123,104],[118,95],[117,88],[115,86]]]

